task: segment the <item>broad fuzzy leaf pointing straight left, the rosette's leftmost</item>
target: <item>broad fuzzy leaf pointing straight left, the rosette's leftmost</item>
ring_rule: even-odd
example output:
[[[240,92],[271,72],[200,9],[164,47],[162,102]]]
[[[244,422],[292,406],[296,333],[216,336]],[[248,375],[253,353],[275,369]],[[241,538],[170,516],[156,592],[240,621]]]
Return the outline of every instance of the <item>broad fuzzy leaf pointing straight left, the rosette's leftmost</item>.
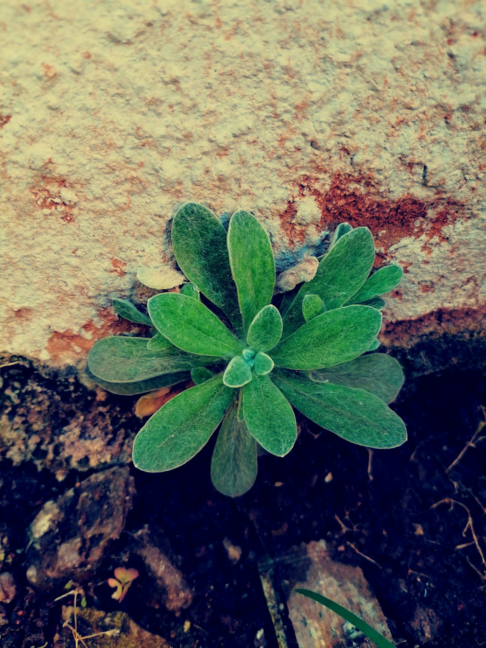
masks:
[[[209,364],[214,364],[211,356],[184,353],[176,347],[151,351],[147,338],[123,336],[98,340],[88,357],[89,371],[106,382],[139,382]]]

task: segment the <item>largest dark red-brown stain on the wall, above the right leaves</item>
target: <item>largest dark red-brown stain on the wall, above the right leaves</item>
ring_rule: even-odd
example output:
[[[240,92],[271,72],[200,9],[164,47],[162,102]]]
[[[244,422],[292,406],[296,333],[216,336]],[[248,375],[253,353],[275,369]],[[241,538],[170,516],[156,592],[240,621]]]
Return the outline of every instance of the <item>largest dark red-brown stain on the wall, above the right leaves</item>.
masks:
[[[389,247],[402,238],[425,235],[427,241],[434,238],[443,242],[447,238],[443,234],[445,226],[454,224],[459,217],[467,220],[463,203],[450,198],[444,200],[437,197],[430,202],[409,195],[397,200],[383,198],[377,195],[371,174],[352,176],[337,172],[332,176],[327,191],[321,191],[319,183],[318,177],[311,176],[303,176],[297,183],[299,196],[312,195],[321,210],[321,218],[316,225],[318,231],[334,229],[341,222],[348,222],[353,227],[369,227],[378,248],[377,266],[388,260]],[[290,213],[290,205],[294,200],[295,198],[288,203],[286,211],[281,215],[283,229],[289,237],[294,235],[294,231],[285,227],[285,214]],[[436,211],[437,207],[440,207],[439,211]],[[303,233],[299,232],[297,241],[301,242],[302,237]],[[423,251],[426,254],[432,253],[432,247],[424,245],[426,248]]]

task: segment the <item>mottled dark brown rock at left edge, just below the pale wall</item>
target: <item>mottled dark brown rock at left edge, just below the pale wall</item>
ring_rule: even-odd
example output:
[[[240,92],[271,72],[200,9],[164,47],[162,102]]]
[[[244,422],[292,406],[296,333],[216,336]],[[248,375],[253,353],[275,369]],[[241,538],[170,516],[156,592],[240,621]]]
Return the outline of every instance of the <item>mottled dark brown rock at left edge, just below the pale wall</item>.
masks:
[[[69,470],[130,463],[132,437],[140,427],[130,413],[130,401],[122,408],[102,389],[80,389],[73,376],[53,381],[20,364],[8,367],[8,373],[5,369],[5,376],[0,413],[3,459],[14,466],[32,463],[60,481]]]

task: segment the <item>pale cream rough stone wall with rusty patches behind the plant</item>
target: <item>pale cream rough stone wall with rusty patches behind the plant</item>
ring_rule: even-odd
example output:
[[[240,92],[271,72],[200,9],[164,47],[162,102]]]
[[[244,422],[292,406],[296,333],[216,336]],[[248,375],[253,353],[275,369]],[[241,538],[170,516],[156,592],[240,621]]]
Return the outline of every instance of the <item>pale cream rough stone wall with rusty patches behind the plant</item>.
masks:
[[[389,345],[474,332],[484,6],[4,1],[0,349],[60,367],[120,330],[111,297],[172,267],[187,200],[254,211],[279,271],[365,224],[406,272]]]

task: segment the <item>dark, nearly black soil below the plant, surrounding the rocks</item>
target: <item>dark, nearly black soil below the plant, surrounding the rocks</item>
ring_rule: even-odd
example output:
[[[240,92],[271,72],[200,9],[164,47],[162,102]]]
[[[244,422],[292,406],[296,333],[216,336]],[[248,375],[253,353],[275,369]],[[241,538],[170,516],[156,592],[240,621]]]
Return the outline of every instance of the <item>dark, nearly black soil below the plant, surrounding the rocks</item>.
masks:
[[[57,389],[61,401],[73,398],[72,388],[63,392],[62,386],[30,369],[8,369],[19,382],[36,380],[41,389]],[[3,376],[8,384],[5,369]],[[211,485],[214,441],[173,472],[132,470],[133,507],[125,531],[86,587],[88,605],[106,612],[121,608],[174,647],[259,646],[263,643],[255,637],[263,629],[266,645],[276,648],[258,562],[324,538],[335,559],[362,567],[397,645],[482,645],[485,566],[470,527],[465,527],[469,511],[481,551],[486,551],[486,441],[470,447],[448,474],[446,469],[484,420],[480,406],[486,405],[485,388],[486,379],[478,371],[457,370],[409,385],[394,406],[408,425],[409,441],[373,453],[372,480],[365,448],[304,423],[287,457],[260,457],[255,487],[238,500],[218,494]],[[76,391],[78,408],[82,398],[92,398],[84,388]],[[104,405],[116,405],[126,416],[126,430],[135,432],[139,422],[129,415],[133,402],[110,396]],[[332,480],[326,482],[329,473]],[[0,623],[5,622],[0,626],[2,647],[52,645],[60,619],[60,604],[52,601],[63,592],[58,588],[38,594],[28,586],[26,529],[42,503],[58,498],[89,474],[72,470],[59,483],[31,463],[12,467],[3,461],[0,571],[13,573],[17,596],[0,605]],[[446,502],[437,504],[441,500]],[[105,583],[133,546],[133,533],[145,524],[194,590],[192,604],[178,617],[163,605],[149,605],[152,582],[137,555],[126,566],[137,568],[140,577],[121,604],[111,599]],[[228,559],[224,538],[242,548],[235,565]],[[468,546],[457,548],[461,545]],[[65,581],[70,578],[66,573]],[[184,632],[187,620],[191,627]]]

